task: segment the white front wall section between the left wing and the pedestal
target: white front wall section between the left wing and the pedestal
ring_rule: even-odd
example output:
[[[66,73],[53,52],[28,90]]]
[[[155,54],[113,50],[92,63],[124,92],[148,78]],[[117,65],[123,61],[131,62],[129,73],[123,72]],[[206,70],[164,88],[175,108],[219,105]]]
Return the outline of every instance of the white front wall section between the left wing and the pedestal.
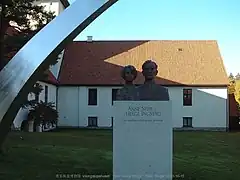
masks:
[[[96,87],[91,87],[96,88]],[[59,126],[84,127],[89,116],[98,117],[98,125],[111,126],[112,90],[101,87],[98,90],[98,105],[88,106],[87,87],[59,87]]]

